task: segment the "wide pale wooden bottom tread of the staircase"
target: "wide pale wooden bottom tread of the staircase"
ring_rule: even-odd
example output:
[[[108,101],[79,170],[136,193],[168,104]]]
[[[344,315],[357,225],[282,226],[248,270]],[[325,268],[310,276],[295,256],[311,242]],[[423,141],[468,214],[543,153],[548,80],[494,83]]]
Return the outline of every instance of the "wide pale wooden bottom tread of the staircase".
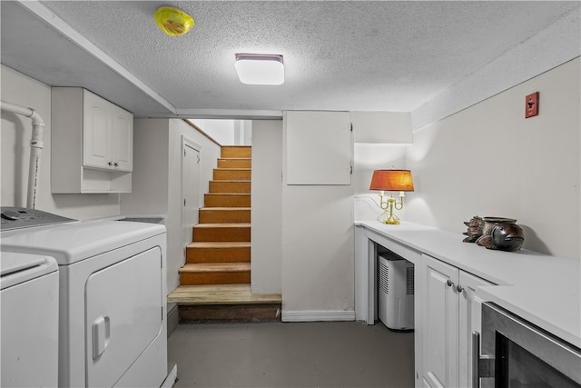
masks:
[[[250,284],[180,285],[167,297],[178,304],[282,303],[280,293],[251,293]]]

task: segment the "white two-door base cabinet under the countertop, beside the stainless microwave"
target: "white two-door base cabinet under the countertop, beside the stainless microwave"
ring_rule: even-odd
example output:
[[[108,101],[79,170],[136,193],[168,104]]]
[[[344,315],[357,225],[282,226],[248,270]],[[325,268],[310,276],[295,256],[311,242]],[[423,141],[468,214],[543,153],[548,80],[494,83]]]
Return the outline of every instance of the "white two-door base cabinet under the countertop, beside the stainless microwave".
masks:
[[[436,387],[471,386],[471,333],[480,330],[478,286],[492,285],[426,254],[422,298],[423,383]]]

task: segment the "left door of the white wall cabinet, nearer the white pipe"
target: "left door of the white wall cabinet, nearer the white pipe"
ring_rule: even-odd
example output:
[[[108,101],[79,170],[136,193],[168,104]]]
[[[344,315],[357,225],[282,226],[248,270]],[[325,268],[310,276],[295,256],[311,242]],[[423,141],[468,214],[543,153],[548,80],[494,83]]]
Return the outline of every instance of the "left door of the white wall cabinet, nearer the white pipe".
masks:
[[[110,103],[86,90],[83,99],[83,165],[110,168],[112,130]]]

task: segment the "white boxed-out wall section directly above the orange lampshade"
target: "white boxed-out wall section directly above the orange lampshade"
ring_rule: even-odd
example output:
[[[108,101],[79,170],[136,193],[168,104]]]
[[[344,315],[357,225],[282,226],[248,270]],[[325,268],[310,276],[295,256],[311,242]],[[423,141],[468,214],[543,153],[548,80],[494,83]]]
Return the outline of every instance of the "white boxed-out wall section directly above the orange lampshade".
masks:
[[[351,112],[355,143],[411,144],[411,119],[406,112]]]

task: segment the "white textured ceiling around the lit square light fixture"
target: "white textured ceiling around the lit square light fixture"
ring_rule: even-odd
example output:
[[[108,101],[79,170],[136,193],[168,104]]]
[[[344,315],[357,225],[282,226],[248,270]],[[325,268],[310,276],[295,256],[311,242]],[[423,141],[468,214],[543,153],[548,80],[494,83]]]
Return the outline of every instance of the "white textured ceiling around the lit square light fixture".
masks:
[[[2,63],[49,85],[84,86],[137,116],[181,112],[410,112],[523,44],[579,2],[54,1],[54,15],[110,57],[2,1]],[[162,34],[159,6],[192,15]],[[285,83],[243,85],[239,52],[284,55]],[[134,79],[119,75],[125,69]],[[135,82],[137,80],[137,82]],[[145,86],[145,87],[143,87]]]

